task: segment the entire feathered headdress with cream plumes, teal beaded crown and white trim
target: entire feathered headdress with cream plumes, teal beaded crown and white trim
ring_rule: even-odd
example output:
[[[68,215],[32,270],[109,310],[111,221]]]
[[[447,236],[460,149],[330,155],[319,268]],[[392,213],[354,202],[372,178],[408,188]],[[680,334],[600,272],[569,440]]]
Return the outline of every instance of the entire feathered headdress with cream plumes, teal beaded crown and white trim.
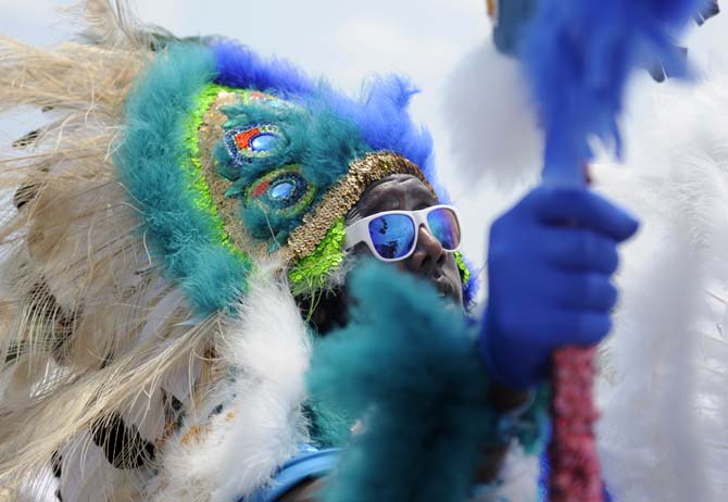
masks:
[[[354,101],[226,40],[85,14],[87,43],[0,49],[2,105],[50,117],[2,174],[0,476],[52,464],[66,501],[236,500],[330,441],[294,297],[343,280],[371,183],[447,200],[430,139],[403,79]]]

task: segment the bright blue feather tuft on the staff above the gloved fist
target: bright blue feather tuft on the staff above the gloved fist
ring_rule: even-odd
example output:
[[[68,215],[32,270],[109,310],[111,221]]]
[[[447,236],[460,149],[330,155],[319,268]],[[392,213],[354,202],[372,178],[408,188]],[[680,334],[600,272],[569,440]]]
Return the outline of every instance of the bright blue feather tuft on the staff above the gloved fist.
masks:
[[[685,74],[673,37],[708,0],[541,0],[523,46],[545,131],[544,180],[583,183],[598,137],[620,153],[631,71],[660,59]]]

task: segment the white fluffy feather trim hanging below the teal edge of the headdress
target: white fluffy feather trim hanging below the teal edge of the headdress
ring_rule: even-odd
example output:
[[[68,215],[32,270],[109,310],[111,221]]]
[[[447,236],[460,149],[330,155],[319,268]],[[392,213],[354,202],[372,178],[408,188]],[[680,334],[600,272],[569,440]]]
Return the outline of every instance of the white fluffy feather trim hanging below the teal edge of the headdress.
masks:
[[[164,447],[164,487],[151,500],[238,500],[269,482],[306,440],[301,402],[311,346],[287,285],[259,272],[239,314],[218,344],[229,377]]]

